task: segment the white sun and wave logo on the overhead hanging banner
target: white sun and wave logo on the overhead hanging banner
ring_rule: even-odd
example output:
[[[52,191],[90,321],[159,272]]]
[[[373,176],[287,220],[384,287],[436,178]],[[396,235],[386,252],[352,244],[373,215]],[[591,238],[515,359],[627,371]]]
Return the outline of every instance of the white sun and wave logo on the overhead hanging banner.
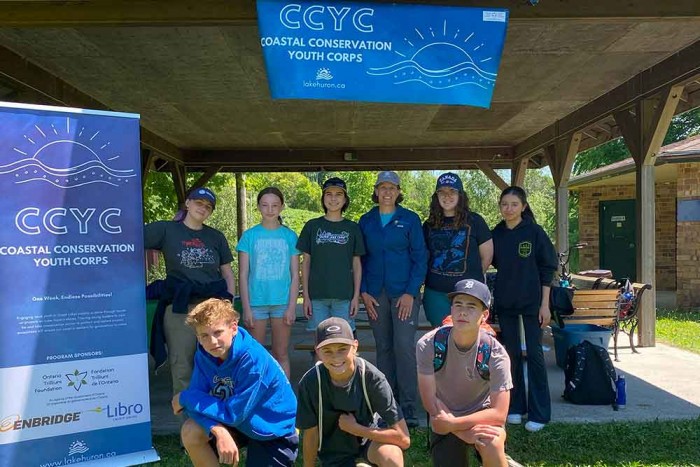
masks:
[[[404,37],[409,51],[394,50],[401,60],[385,67],[369,68],[367,74],[391,77],[396,85],[420,83],[432,89],[459,86],[493,89],[497,73],[484,69],[493,60],[483,56],[484,43],[474,40],[474,32],[463,35],[459,29],[454,33],[448,29],[447,20],[443,21],[442,35],[432,27],[427,32],[414,28],[415,36]]]

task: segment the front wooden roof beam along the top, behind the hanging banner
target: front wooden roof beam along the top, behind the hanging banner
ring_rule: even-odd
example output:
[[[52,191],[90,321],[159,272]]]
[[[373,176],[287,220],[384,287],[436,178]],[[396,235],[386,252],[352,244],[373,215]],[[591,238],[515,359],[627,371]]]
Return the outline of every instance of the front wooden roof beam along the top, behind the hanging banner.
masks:
[[[388,1],[388,0],[387,0]],[[384,1],[384,3],[387,3]],[[382,3],[377,1],[376,3]],[[393,0],[392,3],[431,3]],[[614,19],[696,17],[696,0],[558,0],[530,6],[522,0],[442,0],[453,6],[508,8],[511,19]],[[168,7],[153,0],[3,1],[0,27],[74,26],[197,26],[256,24],[254,0],[169,0]]]

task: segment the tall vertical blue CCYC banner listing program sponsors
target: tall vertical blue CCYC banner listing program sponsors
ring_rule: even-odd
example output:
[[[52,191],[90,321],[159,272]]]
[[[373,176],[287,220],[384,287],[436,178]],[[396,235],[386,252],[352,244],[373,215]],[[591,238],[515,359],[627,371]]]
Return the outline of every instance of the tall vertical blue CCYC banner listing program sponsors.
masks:
[[[0,466],[152,448],[139,116],[0,103]]]

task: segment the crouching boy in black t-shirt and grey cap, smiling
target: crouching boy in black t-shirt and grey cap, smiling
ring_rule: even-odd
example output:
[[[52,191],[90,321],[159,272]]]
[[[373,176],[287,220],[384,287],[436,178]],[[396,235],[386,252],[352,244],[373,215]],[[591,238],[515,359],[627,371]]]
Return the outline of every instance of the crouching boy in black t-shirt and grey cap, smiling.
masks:
[[[316,328],[319,362],[299,382],[297,427],[304,467],[354,467],[357,459],[403,466],[410,438],[384,375],[356,356],[357,341],[342,318]],[[379,421],[381,417],[381,421]]]

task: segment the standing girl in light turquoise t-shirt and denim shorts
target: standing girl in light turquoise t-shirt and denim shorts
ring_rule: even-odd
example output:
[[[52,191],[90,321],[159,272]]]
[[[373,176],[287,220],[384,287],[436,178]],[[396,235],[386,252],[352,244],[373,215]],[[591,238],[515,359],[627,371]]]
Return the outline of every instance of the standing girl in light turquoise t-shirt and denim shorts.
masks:
[[[282,224],[284,195],[279,189],[264,188],[257,200],[262,221],[243,233],[237,248],[243,323],[263,344],[270,323],[272,356],[289,378],[289,335],[299,295],[297,235]]]

